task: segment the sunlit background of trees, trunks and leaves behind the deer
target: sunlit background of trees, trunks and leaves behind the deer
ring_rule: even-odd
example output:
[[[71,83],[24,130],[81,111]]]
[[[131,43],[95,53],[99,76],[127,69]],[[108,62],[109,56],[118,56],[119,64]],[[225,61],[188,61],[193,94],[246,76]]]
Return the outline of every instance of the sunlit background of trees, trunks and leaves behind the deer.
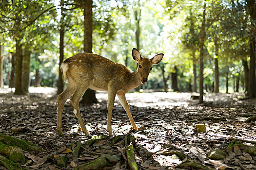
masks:
[[[0,11],[1,87],[16,94],[61,92],[59,66],[80,52],[135,71],[137,48],[164,53],[140,88],[256,96],[255,0],[4,0]]]

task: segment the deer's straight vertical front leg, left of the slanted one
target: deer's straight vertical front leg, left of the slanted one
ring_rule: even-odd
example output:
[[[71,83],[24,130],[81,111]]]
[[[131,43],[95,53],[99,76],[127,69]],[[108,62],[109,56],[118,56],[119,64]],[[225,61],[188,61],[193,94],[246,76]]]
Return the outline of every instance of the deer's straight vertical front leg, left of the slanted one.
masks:
[[[114,107],[116,92],[113,90],[109,90],[108,92],[108,124],[107,124],[107,130],[109,136],[112,136],[112,127],[111,127],[111,117],[112,117],[112,109]]]

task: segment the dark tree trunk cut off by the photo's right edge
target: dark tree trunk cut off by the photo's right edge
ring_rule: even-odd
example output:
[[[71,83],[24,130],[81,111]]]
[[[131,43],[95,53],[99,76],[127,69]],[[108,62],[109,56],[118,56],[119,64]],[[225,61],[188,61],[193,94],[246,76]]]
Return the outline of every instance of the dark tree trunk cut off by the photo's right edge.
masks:
[[[251,17],[250,26],[250,69],[249,69],[249,97],[256,97],[256,0],[246,0]]]

